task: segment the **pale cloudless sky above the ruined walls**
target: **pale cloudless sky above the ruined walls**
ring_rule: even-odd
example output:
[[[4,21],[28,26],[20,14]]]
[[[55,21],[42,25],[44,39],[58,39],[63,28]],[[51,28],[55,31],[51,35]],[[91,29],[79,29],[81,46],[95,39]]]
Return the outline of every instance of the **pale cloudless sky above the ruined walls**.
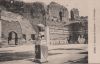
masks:
[[[48,5],[50,2],[54,1],[70,9],[78,8],[80,11],[80,16],[88,16],[88,0],[23,0],[24,2],[44,2]]]

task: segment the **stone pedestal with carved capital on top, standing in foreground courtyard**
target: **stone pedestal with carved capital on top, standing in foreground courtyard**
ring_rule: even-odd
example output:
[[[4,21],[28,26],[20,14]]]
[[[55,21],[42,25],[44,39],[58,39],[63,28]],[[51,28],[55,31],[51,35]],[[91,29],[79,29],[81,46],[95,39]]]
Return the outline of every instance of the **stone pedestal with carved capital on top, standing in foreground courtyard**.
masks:
[[[47,62],[48,47],[46,40],[46,29],[43,24],[38,24],[38,33],[35,43],[35,62],[45,63]]]

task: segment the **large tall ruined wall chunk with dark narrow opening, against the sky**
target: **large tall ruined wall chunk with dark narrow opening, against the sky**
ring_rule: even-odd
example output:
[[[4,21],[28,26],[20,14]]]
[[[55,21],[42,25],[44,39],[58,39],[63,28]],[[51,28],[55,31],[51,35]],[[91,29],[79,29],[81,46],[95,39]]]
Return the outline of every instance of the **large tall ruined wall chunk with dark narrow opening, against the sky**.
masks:
[[[56,22],[68,22],[69,21],[69,13],[67,8],[64,6],[57,4],[55,2],[51,2],[48,5],[48,14],[50,21]]]

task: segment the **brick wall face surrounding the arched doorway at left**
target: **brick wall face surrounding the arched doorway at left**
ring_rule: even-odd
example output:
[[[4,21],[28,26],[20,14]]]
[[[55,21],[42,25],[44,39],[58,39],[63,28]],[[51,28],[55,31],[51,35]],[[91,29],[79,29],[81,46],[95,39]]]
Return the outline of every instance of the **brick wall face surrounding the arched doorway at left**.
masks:
[[[18,21],[9,22],[2,20],[2,37],[7,39],[9,33],[12,31],[16,32],[18,34],[18,37],[21,38],[22,29]]]

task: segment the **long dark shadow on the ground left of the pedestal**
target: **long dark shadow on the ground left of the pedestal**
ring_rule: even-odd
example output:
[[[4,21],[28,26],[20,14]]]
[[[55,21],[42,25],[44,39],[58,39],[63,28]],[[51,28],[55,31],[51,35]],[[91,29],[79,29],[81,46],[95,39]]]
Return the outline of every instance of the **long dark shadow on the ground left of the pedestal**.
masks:
[[[32,52],[0,53],[0,62],[33,58]]]

